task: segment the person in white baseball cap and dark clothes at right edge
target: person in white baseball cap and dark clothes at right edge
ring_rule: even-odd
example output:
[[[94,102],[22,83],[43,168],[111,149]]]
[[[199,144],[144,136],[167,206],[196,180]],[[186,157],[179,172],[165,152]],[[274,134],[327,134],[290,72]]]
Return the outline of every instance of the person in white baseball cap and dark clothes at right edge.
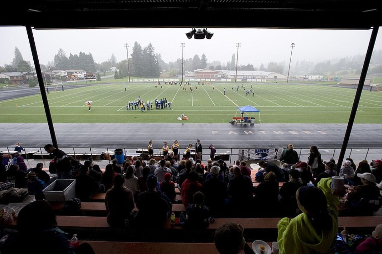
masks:
[[[376,185],[376,177],[372,173],[357,174],[361,178],[362,185],[355,186],[353,191],[348,193],[348,201],[355,205],[361,199],[378,199],[379,188]]]

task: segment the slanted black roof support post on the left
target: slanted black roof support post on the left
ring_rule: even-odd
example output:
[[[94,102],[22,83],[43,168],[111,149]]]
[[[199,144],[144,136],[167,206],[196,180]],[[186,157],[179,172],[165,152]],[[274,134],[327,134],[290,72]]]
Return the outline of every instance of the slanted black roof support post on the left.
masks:
[[[52,145],[58,148],[56,133],[54,131],[54,126],[52,121],[52,115],[50,115],[49,102],[48,102],[47,94],[45,93],[44,80],[42,79],[39,57],[37,55],[36,44],[34,43],[32,27],[26,26],[25,28],[28,34],[29,45],[31,46],[31,52],[32,52],[32,57],[34,62],[34,68],[36,69],[37,80],[39,81],[41,99],[42,99],[42,103],[44,104],[45,116],[47,117],[50,138],[52,139]]]

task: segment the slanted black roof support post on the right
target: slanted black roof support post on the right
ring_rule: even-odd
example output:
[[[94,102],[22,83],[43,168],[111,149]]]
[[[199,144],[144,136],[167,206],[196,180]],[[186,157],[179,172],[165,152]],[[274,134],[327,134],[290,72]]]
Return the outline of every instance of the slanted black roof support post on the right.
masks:
[[[379,28],[378,26],[374,26],[373,30],[371,32],[371,36],[370,36],[370,40],[369,40],[369,46],[367,47],[365,60],[363,62],[363,66],[362,66],[361,76],[359,76],[359,82],[358,82],[356,95],[354,96],[353,107],[351,107],[348,126],[346,128],[345,136],[343,137],[341,152],[340,152],[340,156],[338,157],[338,161],[337,161],[337,170],[338,171],[342,167],[342,161],[343,161],[343,158],[345,157],[346,148],[348,147],[351,129],[353,128],[354,118],[356,117],[356,113],[357,113],[357,109],[358,109],[359,99],[361,99],[363,85],[365,83],[367,70],[369,69],[369,63],[370,63],[371,55],[373,53],[374,44],[376,43],[378,28]]]

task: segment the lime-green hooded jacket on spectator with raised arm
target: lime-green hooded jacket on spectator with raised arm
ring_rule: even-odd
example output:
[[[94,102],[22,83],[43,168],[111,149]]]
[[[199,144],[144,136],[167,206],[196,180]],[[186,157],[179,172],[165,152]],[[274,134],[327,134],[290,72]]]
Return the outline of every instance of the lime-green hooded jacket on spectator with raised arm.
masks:
[[[317,232],[305,211],[290,221],[289,218],[282,218],[277,223],[280,254],[324,254],[333,251],[338,232],[339,199],[332,195],[331,183],[331,178],[323,178],[318,183],[318,188],[326,196],[329,215],[333,222],[332,228],[328,231]]]

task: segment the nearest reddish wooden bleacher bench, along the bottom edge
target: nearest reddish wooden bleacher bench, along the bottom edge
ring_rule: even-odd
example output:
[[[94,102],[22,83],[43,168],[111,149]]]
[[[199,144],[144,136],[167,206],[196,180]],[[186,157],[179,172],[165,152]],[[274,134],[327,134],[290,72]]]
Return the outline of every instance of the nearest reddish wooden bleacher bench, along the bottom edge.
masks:
[[[80,241],[89,243],[97,254],[172,254],[181,250],[182,254],[218,254],[214,243],[128,243],[109,241]],[[268,243],[271,246],[271,243]],[[252,246],[252,243],[248,243]]]

